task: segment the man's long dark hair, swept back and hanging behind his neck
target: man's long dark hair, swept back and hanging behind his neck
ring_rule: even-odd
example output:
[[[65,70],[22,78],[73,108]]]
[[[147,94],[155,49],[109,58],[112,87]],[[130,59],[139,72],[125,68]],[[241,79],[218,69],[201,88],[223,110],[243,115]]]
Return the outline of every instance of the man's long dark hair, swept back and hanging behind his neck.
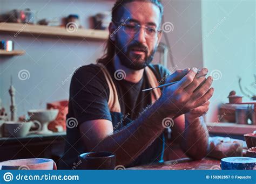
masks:
[[[114,6],[112,8],[112,22],[114,24],[117,24],[119,22],[119,18],[121,17],[119,13],[120,8],[122,8],[124,4],[130,3],[133,1],[151,2],[158,6],[158,8],[160,9],[161,17],[163,16],[164,7],[161,4],[160,0],[117,0],[116,3],[114,3]],[[102,63],[103,65],[107,65],[107,63],[109,63],[113,59],[115,50],[116,50],[116,45],[113,41],[111,41],[110,35],[109,35],[109,38],[107,39],[107,43],[105,46],[105,54],[102,56],[102,58],[99,58],[97,62]]]

